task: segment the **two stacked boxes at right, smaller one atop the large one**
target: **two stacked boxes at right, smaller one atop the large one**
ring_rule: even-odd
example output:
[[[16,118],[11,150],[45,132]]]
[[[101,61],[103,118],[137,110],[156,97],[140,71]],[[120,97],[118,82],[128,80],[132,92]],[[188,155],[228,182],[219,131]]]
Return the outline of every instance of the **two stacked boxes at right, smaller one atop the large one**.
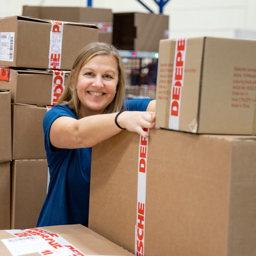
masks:
[[[135,255],[255,255],[255,60],[256,41],[160,41],[164,129],[92,149],[89,228]]]

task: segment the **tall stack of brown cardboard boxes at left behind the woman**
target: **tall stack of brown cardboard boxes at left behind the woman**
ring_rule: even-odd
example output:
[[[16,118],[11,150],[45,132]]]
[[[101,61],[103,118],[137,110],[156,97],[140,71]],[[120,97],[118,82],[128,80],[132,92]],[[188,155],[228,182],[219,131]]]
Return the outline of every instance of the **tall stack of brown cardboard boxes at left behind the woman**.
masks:
[[[98,40],[98,28],[90,24],[12,16],[0,20],[0,34],[0,89],[9,90],[1,91],[1,97],[5,98],[1,100],[4,141],[12,131],[9,144],[2,144],[1,140],[4,147],[1,161],[9,161],[1,163],[1,168],[5,172],[9,168],[9,179],[11,170],[11,207],[7,205],[9,194],[6,193],[6,207],[2,209],[9,222],[0,228],[36,227],[47,193],[48,176],[42,121],[47,109],[56,104],[64,90],[77,53],[89,42]],[[12,122],[8,119],[10,113]],[[7,188],[6,184],[3,180],[1,192]],[[11,215],[6,209],[11,209]],[[1,220],[3,218],[1,214]]]

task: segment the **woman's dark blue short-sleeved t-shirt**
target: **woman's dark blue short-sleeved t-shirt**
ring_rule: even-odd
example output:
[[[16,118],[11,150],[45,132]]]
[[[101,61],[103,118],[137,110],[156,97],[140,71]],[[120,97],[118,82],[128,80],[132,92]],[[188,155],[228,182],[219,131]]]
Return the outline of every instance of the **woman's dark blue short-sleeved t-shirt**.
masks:
[[[125,100],[125,109],[146,111],[150,100],[152,99]],[[44,116],[44,146],[50,182],[37,227],[68,224],[88,227],[92,148],[53,147],[50,128],[60,116],[78,119],[68,105],[56,105]]]

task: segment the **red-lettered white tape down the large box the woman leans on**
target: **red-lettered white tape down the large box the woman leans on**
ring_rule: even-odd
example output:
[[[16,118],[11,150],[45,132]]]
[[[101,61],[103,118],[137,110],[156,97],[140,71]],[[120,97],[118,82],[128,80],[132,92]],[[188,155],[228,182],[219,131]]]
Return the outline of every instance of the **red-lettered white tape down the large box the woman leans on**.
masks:
[[[149,132],[144,128],[144,131]],[[135,225],[135,255],[142,256],[145,251],[145,209],[147,176],[148,137],[140,136],[137,191],[137,223]]]

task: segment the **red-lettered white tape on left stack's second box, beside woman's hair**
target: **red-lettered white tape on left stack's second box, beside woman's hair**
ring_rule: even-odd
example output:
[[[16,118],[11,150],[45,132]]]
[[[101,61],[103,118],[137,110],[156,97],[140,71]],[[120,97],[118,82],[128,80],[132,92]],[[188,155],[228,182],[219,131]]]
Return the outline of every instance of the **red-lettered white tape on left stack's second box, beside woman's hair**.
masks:
[[[64,91],[65,72],[62,70],[53,70],[52,74],[52,99],[51,105],[55,106],[60,98],[60,94]]]

